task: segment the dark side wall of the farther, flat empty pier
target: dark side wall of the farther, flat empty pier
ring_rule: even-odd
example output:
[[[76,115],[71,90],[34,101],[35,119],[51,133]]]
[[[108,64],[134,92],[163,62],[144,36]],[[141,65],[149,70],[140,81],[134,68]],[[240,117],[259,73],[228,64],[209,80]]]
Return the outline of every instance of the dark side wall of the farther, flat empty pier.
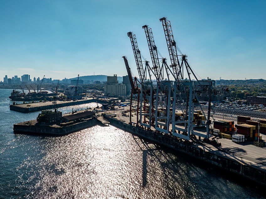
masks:
[[[61,104],[56,104],[56,108],[65,107],[65,106],[72,106],[72,105],[80,105],[80,104],[87,104],[91,102],[96,102],[96,99],[88,99],[88,100],[77,100],[72,102],[66,102]],[[103,101],[97,100],[98,103],[102,103]],[[47,110],[47,109],[54,109],[55,105],[43,105],[43,106],[34,106],[34,107],[22,107],[20,105],[10,105],[10,110],[14,110],[17,112],[22,113],[29,113],[29,112],[35,112],[35,111],[41,111],[41,110]]]

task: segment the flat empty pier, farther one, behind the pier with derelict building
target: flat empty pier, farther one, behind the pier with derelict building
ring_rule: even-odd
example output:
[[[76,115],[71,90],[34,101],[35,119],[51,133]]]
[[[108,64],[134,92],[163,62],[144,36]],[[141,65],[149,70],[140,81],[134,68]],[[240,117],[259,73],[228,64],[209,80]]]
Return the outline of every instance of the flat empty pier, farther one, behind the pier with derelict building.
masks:
[[[14,110],[17,112],[22,113],[29,113],[47,109],[54,109],[65,107],[65,106],[72,106],[72,105],[80,105],[80,104],[87,104],[91,102],[96,102],[95,98],[87,98],[87,99],[80,99],[76,101],[56,101],[56,105],[53,104],[53,101],[46,101],[46,102],[36,102],[36,103],[25,103],[25,104],[18,104],[18,105],[10,105],[10,110]],[[99,102],[99,100],[97,100]]]

